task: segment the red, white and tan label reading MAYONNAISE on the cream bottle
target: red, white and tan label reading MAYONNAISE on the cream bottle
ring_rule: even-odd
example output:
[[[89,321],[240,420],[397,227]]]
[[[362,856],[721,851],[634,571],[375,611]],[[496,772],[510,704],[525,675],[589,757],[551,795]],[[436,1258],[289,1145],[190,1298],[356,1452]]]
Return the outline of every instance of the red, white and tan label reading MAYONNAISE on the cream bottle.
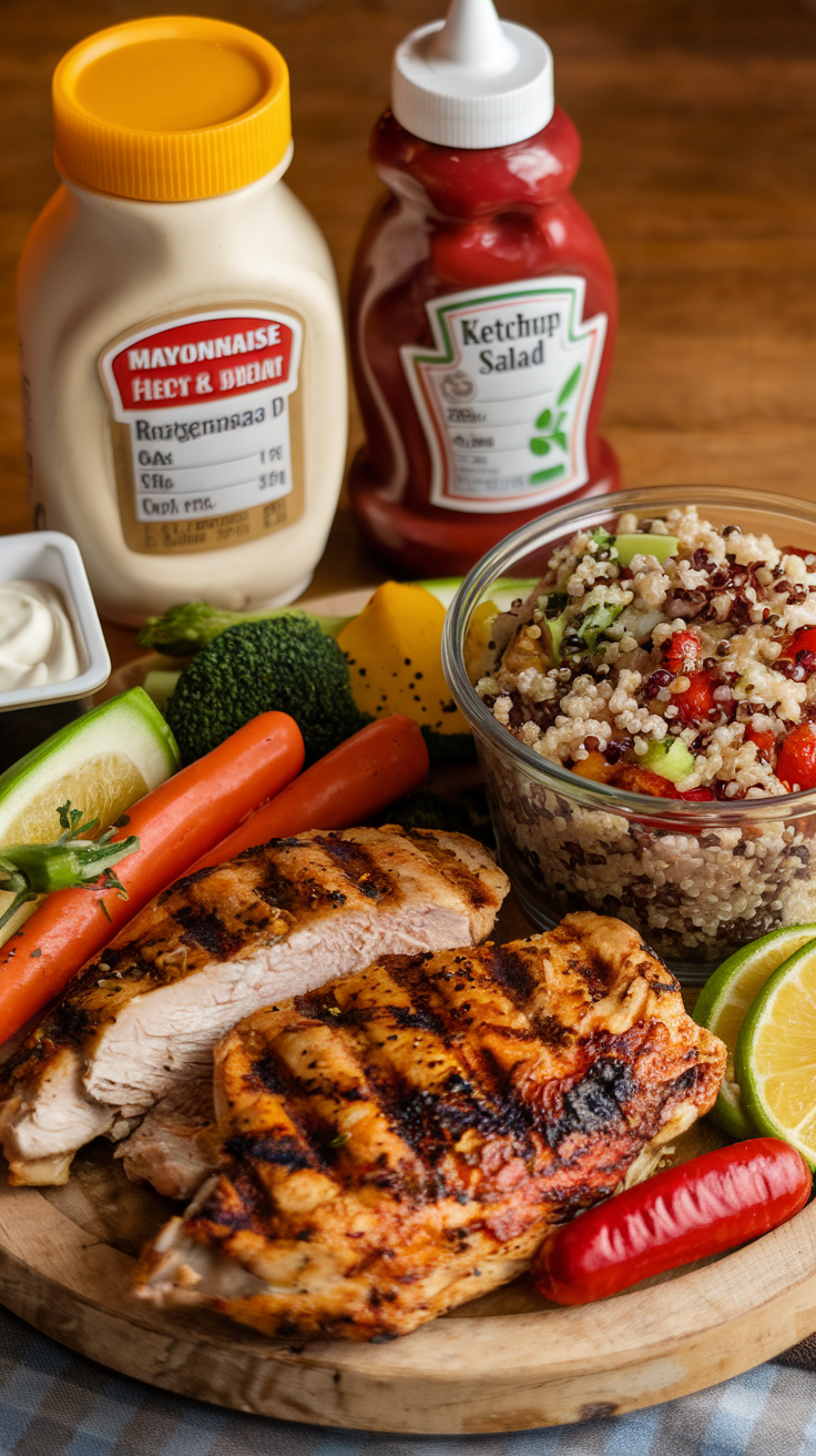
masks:
[[[301,344],[303,323],[288,312],[220,309],[127,333],[103,351],[132,549],[212,550],[297,520]]]

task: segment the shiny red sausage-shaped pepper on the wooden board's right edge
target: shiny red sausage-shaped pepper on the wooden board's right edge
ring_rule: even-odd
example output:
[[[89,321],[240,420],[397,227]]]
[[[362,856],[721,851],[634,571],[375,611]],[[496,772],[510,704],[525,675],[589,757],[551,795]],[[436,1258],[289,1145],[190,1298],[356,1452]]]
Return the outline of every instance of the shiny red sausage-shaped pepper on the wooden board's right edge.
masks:
[[[724,1254],[793,1219],[810,1169],[778,1137],[717,1147],[579,1214],[541,1245],[532,1280],[556,1305],[588,1305]]]

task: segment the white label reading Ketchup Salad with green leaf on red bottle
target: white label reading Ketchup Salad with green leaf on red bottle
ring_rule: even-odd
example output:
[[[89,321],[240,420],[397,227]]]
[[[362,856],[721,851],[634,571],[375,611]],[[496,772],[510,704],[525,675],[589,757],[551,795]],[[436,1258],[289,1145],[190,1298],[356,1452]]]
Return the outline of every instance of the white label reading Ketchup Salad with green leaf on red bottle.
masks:
[[[431,450],[431,501],[527,510],[586,485],[586,421],[607,314],[585,280],[525,278],[426,303],[433,349],[403,367]]]

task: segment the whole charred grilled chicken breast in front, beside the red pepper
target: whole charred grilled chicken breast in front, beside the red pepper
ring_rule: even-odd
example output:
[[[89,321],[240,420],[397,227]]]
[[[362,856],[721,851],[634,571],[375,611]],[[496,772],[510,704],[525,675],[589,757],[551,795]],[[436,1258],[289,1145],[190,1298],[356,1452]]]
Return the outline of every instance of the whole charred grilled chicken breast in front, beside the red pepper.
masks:
[[[708,1111],[724,1064],[620,920],[381,957],[220,1044],[228,1165],[148,1246],[140,1293],[269,1335],[406,1334],[522,1271]]]

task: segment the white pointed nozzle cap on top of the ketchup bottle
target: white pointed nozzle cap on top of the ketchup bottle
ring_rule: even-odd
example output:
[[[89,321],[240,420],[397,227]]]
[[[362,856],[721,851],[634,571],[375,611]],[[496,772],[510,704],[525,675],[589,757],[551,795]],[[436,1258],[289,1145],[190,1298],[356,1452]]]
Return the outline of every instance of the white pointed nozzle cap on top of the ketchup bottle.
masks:
[[[397,47],[391,109],[406,131],[442,147],[506,147],[553,115],[553,55],[493,0],[451,0],[445,20]]]

